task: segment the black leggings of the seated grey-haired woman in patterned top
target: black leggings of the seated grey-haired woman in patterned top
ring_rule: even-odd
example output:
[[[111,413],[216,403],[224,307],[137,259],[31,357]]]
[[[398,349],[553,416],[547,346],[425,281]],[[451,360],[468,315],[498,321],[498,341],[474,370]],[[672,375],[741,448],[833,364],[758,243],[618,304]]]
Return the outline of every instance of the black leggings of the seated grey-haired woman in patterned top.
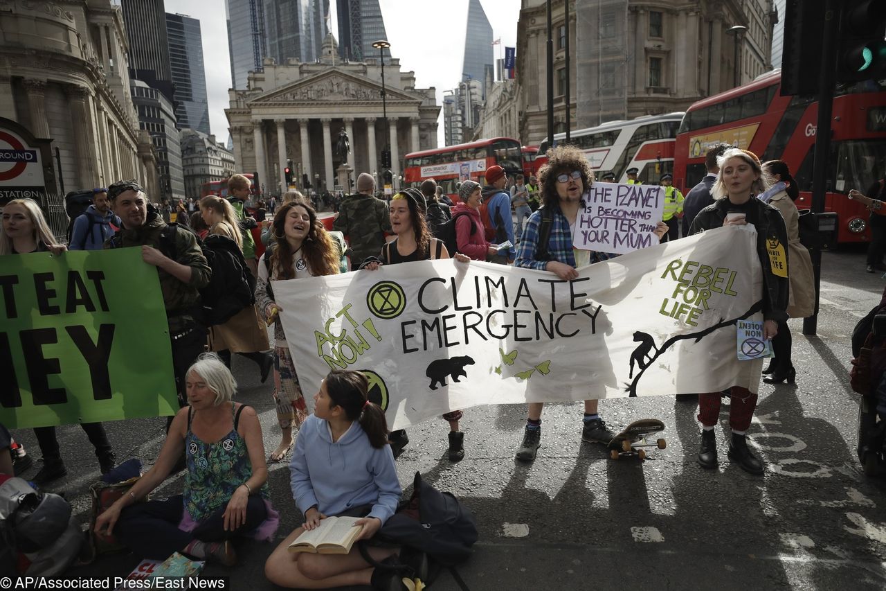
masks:
[[[124,508],[114,532],[136,556],[165,560],[173,552],[181,552],[191,540],[207,542],[229,540],[252,532],[268,518],[268,508],[259,495],[249,497],[246,521],[237,530],[224,529],[225,507],[217,509],[201,521],[193,532],[178,529],[183,516],[182,495],[164,500],[149,500]]]

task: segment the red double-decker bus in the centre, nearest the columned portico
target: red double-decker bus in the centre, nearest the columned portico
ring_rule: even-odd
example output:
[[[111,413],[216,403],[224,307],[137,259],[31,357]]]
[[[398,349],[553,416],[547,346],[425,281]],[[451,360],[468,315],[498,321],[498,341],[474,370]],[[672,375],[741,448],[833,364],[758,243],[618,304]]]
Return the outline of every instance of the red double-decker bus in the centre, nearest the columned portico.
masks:
[[[455,184],[462,180],[475,180],[485,185],[486,169],[498,164],[509,176],[524,171],[520,142],[511,138],[479,139],[468,144],[446,146],[406,154],[406,184],[417,185],[426,178],[433,178],[455,201],[458,191]]]

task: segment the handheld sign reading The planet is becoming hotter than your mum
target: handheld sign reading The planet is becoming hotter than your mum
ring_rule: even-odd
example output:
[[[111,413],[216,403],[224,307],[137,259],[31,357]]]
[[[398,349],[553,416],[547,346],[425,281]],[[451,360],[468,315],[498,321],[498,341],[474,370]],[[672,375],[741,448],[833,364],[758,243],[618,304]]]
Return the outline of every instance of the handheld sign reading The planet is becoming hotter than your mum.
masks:
[[[664,187],[595,183],[584,201],[572,232],[575,248],[624,255],[658,243]]]

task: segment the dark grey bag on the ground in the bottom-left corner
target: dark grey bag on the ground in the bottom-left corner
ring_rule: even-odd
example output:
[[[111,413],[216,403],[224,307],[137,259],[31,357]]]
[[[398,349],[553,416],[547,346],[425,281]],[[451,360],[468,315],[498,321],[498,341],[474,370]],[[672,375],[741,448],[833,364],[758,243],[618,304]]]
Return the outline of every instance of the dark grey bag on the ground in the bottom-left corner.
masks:
[[[71,505],[24,478],[0,477],[0,575],[58,576],[80,554],[83,536]]]

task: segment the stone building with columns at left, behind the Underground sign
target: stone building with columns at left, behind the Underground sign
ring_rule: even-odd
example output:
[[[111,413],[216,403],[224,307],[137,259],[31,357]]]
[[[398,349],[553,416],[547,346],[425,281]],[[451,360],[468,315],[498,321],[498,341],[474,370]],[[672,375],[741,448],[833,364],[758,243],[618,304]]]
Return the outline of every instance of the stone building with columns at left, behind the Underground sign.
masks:
[[[53,193],[136,177],[158,194],[156,153],[129,96],[127,51],[110,0],[0,0],[0,116],[58,148]]]

